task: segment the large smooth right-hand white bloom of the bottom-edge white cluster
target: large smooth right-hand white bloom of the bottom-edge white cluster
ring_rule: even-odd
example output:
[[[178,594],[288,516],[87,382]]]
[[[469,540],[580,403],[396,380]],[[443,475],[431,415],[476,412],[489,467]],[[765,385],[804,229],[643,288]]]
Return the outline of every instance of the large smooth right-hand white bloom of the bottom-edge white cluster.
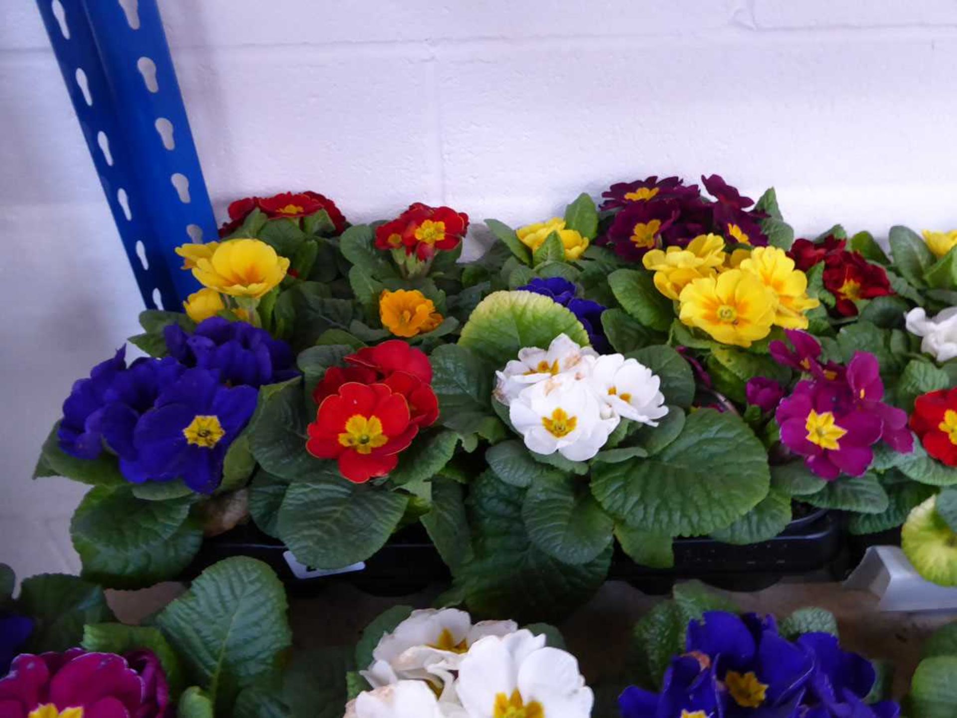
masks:
[[[456,690],[469,718],[588,718],[594,702],[574,657],[526,630],[479,640]]]

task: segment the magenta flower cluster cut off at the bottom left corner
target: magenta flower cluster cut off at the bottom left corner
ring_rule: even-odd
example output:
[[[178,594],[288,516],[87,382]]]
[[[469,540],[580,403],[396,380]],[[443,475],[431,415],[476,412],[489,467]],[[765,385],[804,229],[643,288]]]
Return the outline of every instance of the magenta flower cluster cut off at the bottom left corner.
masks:
[[[24,653],[0,679],[4,718],[171,718],[174,711],[166,673],[148,650]]]

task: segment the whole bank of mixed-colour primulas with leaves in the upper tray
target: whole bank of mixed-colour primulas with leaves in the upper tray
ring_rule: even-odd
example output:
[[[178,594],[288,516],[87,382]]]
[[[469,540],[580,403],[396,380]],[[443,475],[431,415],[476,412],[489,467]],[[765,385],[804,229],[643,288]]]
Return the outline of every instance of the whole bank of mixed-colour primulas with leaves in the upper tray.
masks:
[[[148,356],[79,380],[44,446],[38,475],[94,484],[84,576],[176,577],[249,521],[338,570],[420,525],[449,603],[552,617],[616,545],[668,568],[680,537],[765,541],[796,506],[861,533],[915,509],[904,549],[957,581],[949,236],[893,228],[892,258],[840,227],[795,241],[773,190],[717,175],[486,220],[469,262],[449,207],[350,226],[303,192],[229,214],[178,250],[202,284],[185,312],[145,312]]]

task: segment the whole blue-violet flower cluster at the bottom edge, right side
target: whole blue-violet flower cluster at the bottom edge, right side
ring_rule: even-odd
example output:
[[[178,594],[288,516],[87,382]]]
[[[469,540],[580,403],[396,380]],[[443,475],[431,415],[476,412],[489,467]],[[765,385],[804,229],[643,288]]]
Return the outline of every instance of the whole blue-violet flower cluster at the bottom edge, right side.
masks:
[[[660,693],[633,686],[618,703],[622,718],[897,718],[893,701],[865,703],[876,680],[871,662],[831,634],[790,641],[772,616],[712,611],[688,624]]]

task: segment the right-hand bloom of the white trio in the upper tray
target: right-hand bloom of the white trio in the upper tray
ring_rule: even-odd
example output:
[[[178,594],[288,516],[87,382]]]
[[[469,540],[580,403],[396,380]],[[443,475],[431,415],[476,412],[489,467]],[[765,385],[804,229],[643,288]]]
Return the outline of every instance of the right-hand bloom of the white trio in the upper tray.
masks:
[[[637,359],[607,354],[595,360],[590,384],[598,398],[617,415],[657,426],[657,419],[668,414],[661,379]]]

